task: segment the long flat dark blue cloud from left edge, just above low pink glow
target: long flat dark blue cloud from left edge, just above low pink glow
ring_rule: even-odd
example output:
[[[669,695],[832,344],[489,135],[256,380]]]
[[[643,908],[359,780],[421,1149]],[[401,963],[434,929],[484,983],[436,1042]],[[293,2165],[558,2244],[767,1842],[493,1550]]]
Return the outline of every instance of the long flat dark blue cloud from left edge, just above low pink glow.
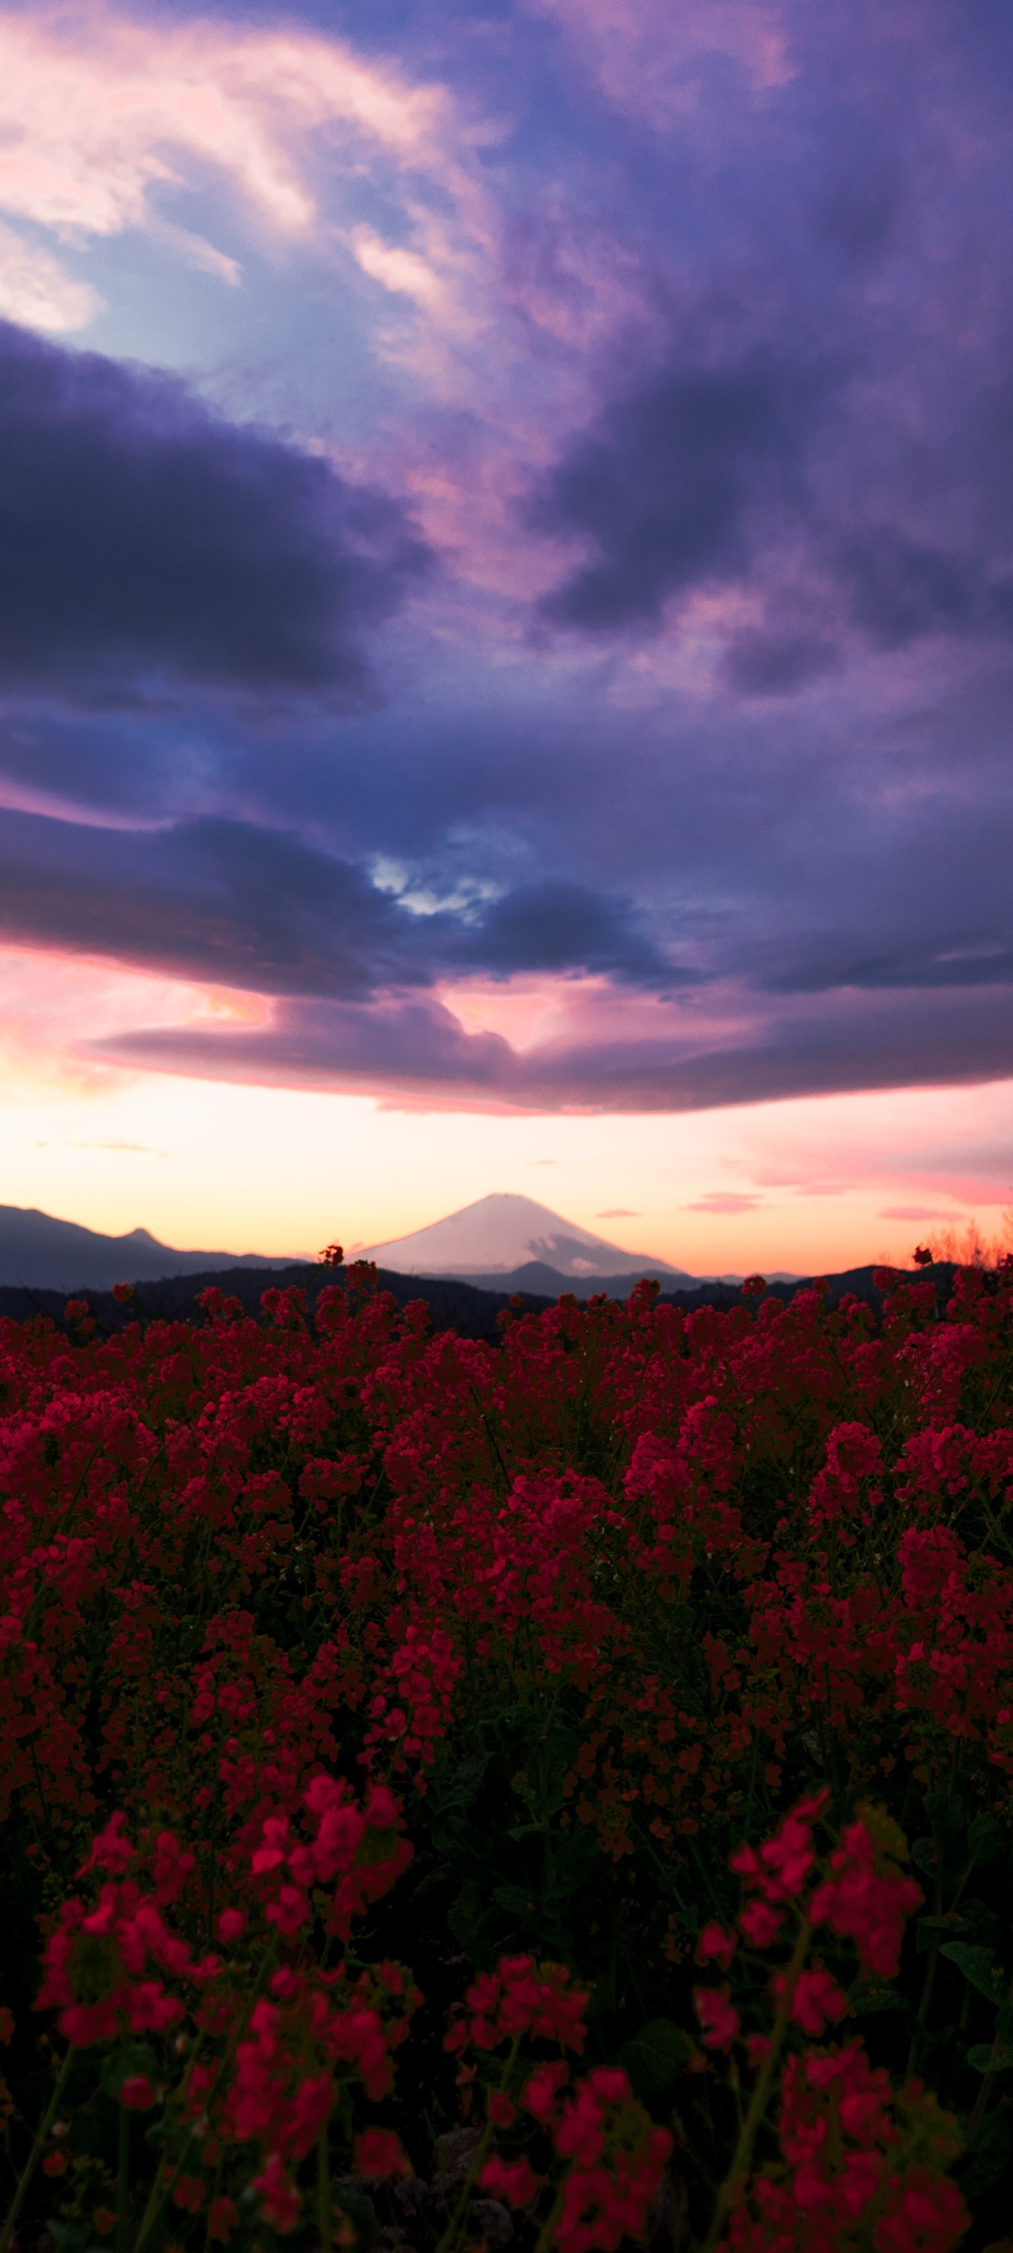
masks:
[[[624,901],[585,885],[547,879],[477,917],[423,917],[297,836],[207,816],[144,834],[0,813],[0,937],[257,994],[360,1000],[468,971],[698,980]]]

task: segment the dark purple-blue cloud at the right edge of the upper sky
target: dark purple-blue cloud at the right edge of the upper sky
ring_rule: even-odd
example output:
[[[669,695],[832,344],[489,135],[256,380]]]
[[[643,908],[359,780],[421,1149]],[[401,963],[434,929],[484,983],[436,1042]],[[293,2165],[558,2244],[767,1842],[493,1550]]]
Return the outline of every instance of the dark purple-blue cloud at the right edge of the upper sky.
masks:
[[[828,336],[817,372],[799,338],[795,360],[770,347],[700,372],[678,347],[664,381],[606,406],[531,509],[538,529],[594,550],[540,615],[599,635],[644,631],[671,595],[743,586],[763,615],[729,633],[725,680],[745,696],[790,696],[860,644],[1006,638],[1008,523],[986,525],[995,487],[1013,484],[1008,430],[986,444],[990,421],[1004,424],[997,399],[977,399],[975,457],[934,367],[936,397],[921,383],[925,428],[891,444],[896,401],[858,410],[860,349]]]

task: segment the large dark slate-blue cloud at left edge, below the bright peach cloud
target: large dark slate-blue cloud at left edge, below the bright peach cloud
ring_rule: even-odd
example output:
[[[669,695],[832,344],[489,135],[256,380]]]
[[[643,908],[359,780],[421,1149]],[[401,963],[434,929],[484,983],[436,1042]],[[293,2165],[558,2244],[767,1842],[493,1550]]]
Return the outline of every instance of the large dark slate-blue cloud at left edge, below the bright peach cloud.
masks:
[[[387,493],[0,322],[2,683],[360,698],[362,633],[425,563]]]

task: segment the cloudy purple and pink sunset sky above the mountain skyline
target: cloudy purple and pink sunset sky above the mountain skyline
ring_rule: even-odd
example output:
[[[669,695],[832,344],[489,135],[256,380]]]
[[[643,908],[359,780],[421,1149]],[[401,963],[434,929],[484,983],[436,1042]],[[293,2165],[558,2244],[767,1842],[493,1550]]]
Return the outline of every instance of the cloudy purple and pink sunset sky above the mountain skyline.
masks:
[[[1013,1205],[999,0],[0,7],[0,1201]]]

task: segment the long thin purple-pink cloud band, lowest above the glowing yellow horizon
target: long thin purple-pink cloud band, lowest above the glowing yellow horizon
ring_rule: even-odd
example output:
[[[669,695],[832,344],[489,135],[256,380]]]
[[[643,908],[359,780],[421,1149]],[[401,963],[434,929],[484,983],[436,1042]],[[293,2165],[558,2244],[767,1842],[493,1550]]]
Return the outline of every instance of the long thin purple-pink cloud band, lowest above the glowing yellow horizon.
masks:
[[[574,1036],[576,1032],[576,1036]],[[1013,1070],[1013,989],[997,1007],[948,996],[916,1007],[837,1009],[743,1032],[696,1030],[673,1014],[655,1036],[615,1036],[594,1003],[574,1030],[516,1048],[493,1030],[468,1032],[439,998],[378,994],[367,1003],[279,998],[263,1027],[137,1027],[86,1043],[92,1061],[241,1079],[380,1093],[387,1102],[475,1111],[709,1111],[858,1088],[952,1086]]]

